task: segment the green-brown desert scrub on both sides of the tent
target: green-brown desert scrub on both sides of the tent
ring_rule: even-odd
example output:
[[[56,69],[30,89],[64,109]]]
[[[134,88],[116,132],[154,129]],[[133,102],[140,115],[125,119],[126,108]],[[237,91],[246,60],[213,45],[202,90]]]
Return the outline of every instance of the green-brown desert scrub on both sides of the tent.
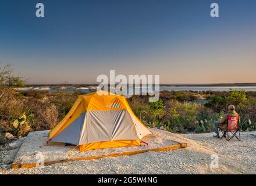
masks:
[[[0,133],[16,137],[29,131],[49,130],[69,112],[81,92],[16,91],[22,78],[12,76],[9,66],[0,73]],[[229,104],[236,105],[243,131],[256,130],[256,92],[162,91],[158,102],[148,96],[128,98],[136,116],[148,127],[173,133],[207,133],[214,129]]]

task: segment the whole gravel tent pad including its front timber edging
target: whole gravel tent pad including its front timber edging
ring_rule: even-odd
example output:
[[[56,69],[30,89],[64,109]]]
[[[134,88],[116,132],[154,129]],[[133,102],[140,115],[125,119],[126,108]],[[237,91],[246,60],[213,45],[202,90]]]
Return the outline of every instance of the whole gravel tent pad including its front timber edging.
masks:
[[[44,162],[44,166],[48,166],[55,163],[73,162],[77,160],[128,156],[144,152],[171,151],[186,148],[187,146],[186,143],[173,141],[168,135],[159,134],[157,131],[153,132],[155,135],[145,139],[145,141],[149,143],[148,146],[142,144],[141,146],[106,148],[84,152],[79,152],[78,149],[75,149],[70,156],[68,155],[69,152],[76,146],[65,146],[64,144],[53,143],[46,145],[48,131],[31,132],[27,135],[20,147],[13,161],[12,169],[32,168],[36,167],[37,164],[41,162]]]

